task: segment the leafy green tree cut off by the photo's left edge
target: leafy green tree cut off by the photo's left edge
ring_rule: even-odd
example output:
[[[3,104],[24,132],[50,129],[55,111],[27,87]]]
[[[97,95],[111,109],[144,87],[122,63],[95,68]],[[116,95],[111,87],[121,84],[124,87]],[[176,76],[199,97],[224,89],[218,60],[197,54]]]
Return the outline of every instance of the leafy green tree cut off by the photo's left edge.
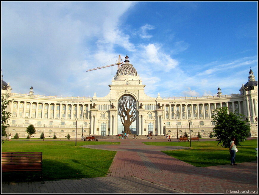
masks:
[[[7,112],[6,111],[6,108],[9,104],[10,100],[6,100],[4,99],[4,96],[2,95],[2,98],[1,98],[1,103],[2,103],[2,110],[1,110],[1,113],[2,113],[2,118],[1,118],[1,122],[2,122],[2,126],[1,126],[1,129],[2,129],[2,144],[4,143],[4,140],[3,140],[3,137],[5,136],[5,138],[7,137],[7,134],[6,134],[6,128],[9,125],[8,121],[9,121],[9,118],[11,116],[11,113],[10,112]]]

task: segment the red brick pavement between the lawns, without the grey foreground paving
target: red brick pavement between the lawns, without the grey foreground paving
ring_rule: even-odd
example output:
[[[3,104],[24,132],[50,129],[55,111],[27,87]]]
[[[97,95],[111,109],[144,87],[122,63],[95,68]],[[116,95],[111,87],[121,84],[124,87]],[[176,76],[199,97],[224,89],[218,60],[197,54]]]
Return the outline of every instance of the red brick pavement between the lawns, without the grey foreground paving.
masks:
[[[143,140],[123,140],[129,148],[118,151],[108,176],[135,176],[187,193],[225,193],[226,190],[257,190],[257,163],[195,167],[163,152],[141,150]],[[132,149],[133,151],[129,151]],[[102,145],[105,146],[105,145]],[[106,145],[107,146],[107,145]],[[116,146],[116,145],[113,145]],[[117,145],[118,146],[118,145]],[[152,150],[153,149],[153,150]]]

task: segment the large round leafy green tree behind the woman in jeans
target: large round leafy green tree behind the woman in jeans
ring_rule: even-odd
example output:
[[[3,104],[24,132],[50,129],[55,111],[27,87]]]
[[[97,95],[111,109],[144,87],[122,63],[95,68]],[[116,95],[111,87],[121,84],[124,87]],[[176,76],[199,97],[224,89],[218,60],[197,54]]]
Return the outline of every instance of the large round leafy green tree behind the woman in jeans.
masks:
[[[215,122],[213,137],[217,138],[218,145],[225,148],[230,147],[232,137],[235,137],[236,146],[241,145],[250,132],[250,125],[241,120],[241,114],[235,115],[232,112],[227,114],[227,111],[226,107],[217,108],[216,114],[212,116],[212,122]]]

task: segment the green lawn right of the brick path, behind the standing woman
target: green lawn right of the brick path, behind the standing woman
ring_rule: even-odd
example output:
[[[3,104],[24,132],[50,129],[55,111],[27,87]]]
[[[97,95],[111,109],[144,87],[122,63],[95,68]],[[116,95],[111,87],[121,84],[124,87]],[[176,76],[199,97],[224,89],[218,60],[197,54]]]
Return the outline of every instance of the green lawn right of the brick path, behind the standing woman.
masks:
[[[187,146],[190,142],[144,142],[146,145],[163,146]],[[230,152],[228,148],[217,146],[216,141],[192,141],[190,149],[162,151],[167,155],[177,158],[181,161],[190,163],[196,167],[216,166],[230,164]],[[246,140],[241,143],[236,153],[235,162],[255,161],[255,148],[257,148],[257,139]]]

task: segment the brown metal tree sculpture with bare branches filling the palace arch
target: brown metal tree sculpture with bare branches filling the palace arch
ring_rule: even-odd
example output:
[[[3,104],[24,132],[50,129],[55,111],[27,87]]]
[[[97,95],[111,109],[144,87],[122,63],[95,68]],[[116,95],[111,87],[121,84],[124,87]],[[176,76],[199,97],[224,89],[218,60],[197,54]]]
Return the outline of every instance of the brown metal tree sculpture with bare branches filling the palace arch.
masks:
[[[124,132],[132,134],[129,126],[136,120],[136,100],[132,95],[123,95],[118,101],[118,115],[121,118]]]

